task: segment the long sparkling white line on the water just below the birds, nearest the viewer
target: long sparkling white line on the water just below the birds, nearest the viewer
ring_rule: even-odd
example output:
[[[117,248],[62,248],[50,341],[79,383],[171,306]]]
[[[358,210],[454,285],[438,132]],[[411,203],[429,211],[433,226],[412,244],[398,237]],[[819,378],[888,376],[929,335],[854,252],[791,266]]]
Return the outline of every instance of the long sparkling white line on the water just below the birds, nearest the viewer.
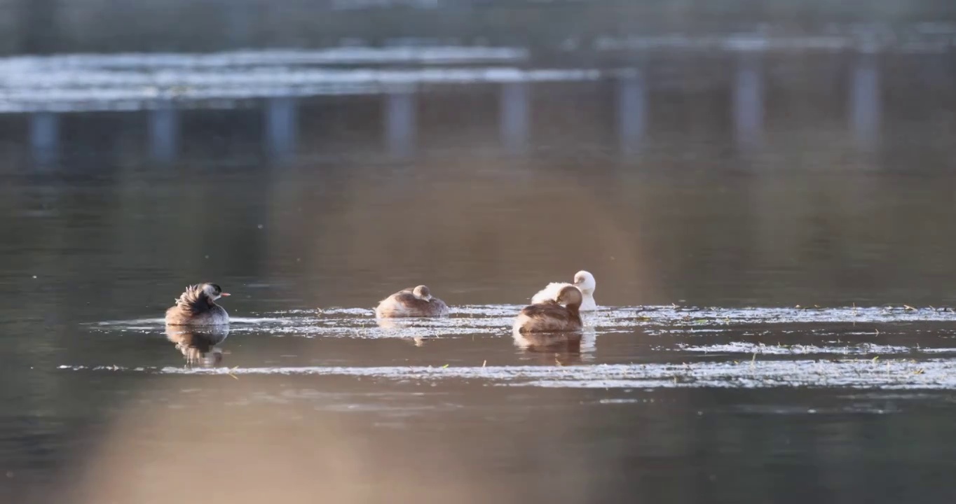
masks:
[[[731,388],[956,389],[952,361],[904,360],[762,361],[686,365],[596,365],[571,367],[288,367],[122,368],[60,366],[73,371],[142,372],[164,375],[353,376],[389,380],[488,380],[495,385],[561,388]]]

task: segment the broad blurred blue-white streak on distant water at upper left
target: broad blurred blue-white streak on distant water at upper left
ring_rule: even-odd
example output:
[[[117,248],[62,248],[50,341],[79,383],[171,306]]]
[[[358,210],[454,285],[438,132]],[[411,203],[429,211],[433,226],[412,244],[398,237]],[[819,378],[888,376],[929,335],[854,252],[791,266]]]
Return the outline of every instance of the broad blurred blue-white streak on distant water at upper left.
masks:
[[[234,108],[274,96],[383,94],[418,85],[596,80],[589,69],[511,67],[413,70],[237,69],[223,73],[168,71],[0,71],[0,113],[148,110],[169,106]]]

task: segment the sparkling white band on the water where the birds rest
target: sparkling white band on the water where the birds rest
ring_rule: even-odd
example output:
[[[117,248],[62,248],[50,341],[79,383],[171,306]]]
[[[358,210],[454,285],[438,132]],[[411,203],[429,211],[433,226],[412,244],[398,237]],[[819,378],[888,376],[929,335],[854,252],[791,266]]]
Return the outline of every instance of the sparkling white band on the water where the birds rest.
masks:
[[[514,317],[524,305],[462,305],[452,306],[448,317],[376,319],[370,308],[331,307],[324,309],[296,309],[263,313],[255,317],[231,317],[229,331],[232,333],[265,333],[274,337],[303,338],[408,338],[408,337],[458,337],[469,334],[504,336],[511,331]],[[587,330],[595,334],[633,333],[640,327],[643,333],[652,338],[688,335],[706,338],[711,334],[733,331],[740,326],[747,327],[744,337],[762,337],[765,333],[781,331],[775,335],[792,333],[832,332],[832,328],[814,328],[799,326],[804,324],[857,323],[869,327],[865,331],[855,330],[840,333],[857,336],[872,336],[877,328],[872,324],[881,324],[879,333],[892,333],[885,325],[900,324],[897,332],[920,332],[923,329],[908,328],[907,323],[950,322],[956,319],[951,312],[922,310],[887,310],[881,307],[852,308],[837,307],[823,310],[801,310],[795,308],[675,308],[673,306],[634,306],[602,308],[595,312],[582,313]],[[782,327],[782,325],[790,325]],[[133,319],[128,321],[104,321],[91,323],[98,332],[109,331],[162,331],[163,319]],[[871,332],[872,331],[872,332]],[[945,328],[929,328],[926,332],[938,335],[952,333]],[[819,334],[817,334],[819,335]],[[777,340],[774,340],[777,341]],[[684,346],[675,349],[688,352],[725,352],[725,353],[860,353],[878,351],[864,347],[849,347],[838,342],[832,347],[771,347],[750,343],[730,343],[728,347]],[[871,347],[872,348],[872,347]],[[907,351],[904,347],[887,347],[882,353]],[[945,352],[946,350],[929,350]]]

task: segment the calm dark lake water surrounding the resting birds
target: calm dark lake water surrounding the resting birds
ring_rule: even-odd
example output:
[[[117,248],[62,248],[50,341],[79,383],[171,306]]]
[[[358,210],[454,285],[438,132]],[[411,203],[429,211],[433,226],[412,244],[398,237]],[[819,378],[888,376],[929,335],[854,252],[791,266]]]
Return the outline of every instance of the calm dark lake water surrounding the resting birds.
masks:
[[[0,62],[0,500],[956,496],[949,55],[360,56]]]

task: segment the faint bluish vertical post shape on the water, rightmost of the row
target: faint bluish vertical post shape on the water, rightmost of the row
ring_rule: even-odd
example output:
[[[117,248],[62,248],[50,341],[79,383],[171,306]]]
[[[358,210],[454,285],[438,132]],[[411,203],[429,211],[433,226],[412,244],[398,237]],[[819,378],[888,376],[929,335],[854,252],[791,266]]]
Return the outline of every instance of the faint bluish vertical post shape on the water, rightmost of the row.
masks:
[[[858,148],[869,151],[880,141],[880,70],[876,53],[858,55],[851,86],[851,127]]]

